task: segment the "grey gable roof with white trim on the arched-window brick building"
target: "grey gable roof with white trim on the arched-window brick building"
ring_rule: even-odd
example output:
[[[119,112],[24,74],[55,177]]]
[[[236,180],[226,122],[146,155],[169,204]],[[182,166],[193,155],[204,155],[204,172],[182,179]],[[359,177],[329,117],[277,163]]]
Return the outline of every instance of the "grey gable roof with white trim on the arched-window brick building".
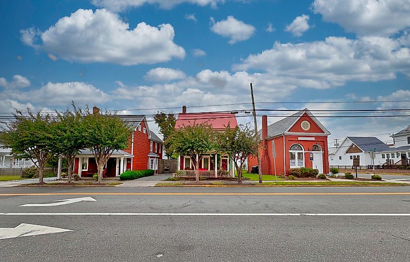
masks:
[[[324,127],[322,125],[322,123],[320,123],[311,113],[311,111],[309,111],[308,108],[305,108],[303,110],[300,110],[298,112],[296,112],[293,115],[290,115],[288,117],[285,117],[284,119],[279,120],[278,122],[272,123],[270,125],[268,125],[268,138],[271,137],[275,137],[281,134],[284,134],[285,132],[287,132],[289,129],[291,129],[292,126],[295,125],[295,123],[299,120],[300,117],[302,117],[305,113],[307,113],[309,115],[309,117],[313,120],[313,122],[315,122],[322,130],[325,134],[330,134],[330,132],[328,131],[328,129],[326,129],[326,127]],[[259,130],[259,136],[262,136],[262,129]]]

